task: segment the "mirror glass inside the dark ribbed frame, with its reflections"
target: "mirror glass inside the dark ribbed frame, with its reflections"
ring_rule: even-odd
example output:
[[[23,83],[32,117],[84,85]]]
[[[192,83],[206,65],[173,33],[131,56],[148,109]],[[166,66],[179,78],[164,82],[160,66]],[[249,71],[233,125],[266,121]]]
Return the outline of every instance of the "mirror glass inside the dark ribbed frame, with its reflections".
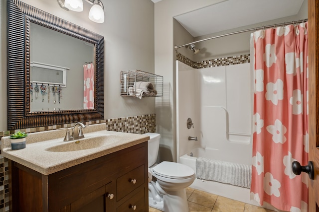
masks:
[[[94,109],[95,47],[31,22],[30,112]]]

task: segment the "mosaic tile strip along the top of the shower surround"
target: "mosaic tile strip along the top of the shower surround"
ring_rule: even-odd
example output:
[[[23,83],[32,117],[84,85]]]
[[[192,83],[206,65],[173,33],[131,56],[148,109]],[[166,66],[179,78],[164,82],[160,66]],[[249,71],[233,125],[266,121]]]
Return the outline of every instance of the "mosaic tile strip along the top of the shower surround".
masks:
[[[217,58],[212,60],[206,61],[198,61],[193,62],[190,59],[186,58],[182,54],[177,52],[176,58],[178,61],[190,66],[194,69],[202,69],[202,68],[210,68],[210,67],[218,67],[218,66],[229,66],[229,65],[236,65],[236,64],[245,64],[250,62],[250,55],[239,55],[239,56],[232,56],[232,57],[224,57],[224,58]]]

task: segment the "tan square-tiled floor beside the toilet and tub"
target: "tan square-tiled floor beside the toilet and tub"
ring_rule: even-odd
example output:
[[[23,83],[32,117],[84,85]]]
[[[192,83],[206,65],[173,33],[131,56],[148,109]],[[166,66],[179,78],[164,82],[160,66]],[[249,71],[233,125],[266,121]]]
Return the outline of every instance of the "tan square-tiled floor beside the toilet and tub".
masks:
[[[274,212],[192,188],[186,189],[189,212]],[[149,208],[149,212],[161,212]]]

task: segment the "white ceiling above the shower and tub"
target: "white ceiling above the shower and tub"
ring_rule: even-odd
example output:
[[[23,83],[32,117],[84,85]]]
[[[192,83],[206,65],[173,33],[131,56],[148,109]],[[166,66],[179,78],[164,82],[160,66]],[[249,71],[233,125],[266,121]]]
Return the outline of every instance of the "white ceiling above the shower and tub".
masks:
[[[160,0],[152,0],[154,2]],[[193,36],[296,15],[304,0],[225,0],[174,18]]]

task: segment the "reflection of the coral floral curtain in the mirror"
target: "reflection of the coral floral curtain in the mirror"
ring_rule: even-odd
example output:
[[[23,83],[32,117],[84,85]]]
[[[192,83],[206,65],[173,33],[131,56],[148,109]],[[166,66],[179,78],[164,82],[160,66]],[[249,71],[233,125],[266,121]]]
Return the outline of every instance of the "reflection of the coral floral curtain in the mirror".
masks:
[[[94,65],[84,64],[84,95],[83,108],[94,109]]]

